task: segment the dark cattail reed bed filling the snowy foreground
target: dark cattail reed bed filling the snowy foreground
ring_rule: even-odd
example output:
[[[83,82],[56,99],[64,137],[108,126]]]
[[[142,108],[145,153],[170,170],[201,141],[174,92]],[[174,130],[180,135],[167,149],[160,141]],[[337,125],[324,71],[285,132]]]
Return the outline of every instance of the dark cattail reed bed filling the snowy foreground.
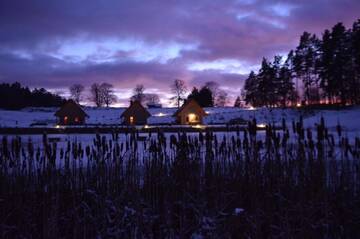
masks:
[[[281,131],[0,144],[0,238],[359,238],[360,139]]]

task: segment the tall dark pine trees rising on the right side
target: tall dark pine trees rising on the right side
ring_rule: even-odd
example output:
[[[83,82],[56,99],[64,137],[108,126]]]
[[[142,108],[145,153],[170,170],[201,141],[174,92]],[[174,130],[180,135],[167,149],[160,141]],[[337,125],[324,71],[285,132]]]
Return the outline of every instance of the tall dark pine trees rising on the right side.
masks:
[[[263,58],[245,81],[242,97],[253,106],[359,104],[360,19],[346,29],[338,23],[321,39],[304,32],[284,59]]]

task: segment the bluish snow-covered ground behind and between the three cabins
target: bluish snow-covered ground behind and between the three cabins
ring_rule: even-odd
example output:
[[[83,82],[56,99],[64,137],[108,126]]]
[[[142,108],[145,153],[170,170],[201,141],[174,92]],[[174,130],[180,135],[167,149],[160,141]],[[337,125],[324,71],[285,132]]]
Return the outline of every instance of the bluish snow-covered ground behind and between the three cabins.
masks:
[[[29,127],[56,125],[54,113],[56,108],[25,108],[19,111],[0,110],[0,127]],[[89,125],[116,125],[121,123],[120,115],[125,108],[94,108],[86,107],[89,115]],[[149,124],[172,124],[176,108],[149,109],[151,117]],[[242,109],[234,107],[205,108],[207,116],[204,124],[226,124],[232,119],[251,120],[256,118],[258,123],[281,124],[282,118],[291,126],[292,120],[298,120],[303,115],[305,127],[314,127],[324,117],[326,125],[334,129],[338,122],[348,132],[360,133],[360,107],[351,107],[341,110],[313,110],[311,112],[298,109]]]

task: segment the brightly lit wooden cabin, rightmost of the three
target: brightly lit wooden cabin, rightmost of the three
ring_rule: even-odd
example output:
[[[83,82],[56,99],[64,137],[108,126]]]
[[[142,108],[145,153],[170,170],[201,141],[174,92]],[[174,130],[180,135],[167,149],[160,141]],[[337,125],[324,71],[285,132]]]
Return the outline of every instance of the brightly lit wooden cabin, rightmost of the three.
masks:
[[[176,122],[183,125],[202,124],[205,115],[204,109],[194,99],[187,100],[174,114]]]

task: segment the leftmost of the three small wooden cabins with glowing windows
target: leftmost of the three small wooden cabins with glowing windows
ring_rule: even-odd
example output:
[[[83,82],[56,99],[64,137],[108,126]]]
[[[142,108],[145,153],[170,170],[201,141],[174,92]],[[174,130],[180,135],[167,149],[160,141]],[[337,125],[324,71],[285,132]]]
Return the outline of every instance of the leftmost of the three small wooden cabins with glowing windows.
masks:
[[[85,118],[89,117],[85,111],[73,100],[68,100],[55,113],[60,125],[81,125],[85,123]]]

